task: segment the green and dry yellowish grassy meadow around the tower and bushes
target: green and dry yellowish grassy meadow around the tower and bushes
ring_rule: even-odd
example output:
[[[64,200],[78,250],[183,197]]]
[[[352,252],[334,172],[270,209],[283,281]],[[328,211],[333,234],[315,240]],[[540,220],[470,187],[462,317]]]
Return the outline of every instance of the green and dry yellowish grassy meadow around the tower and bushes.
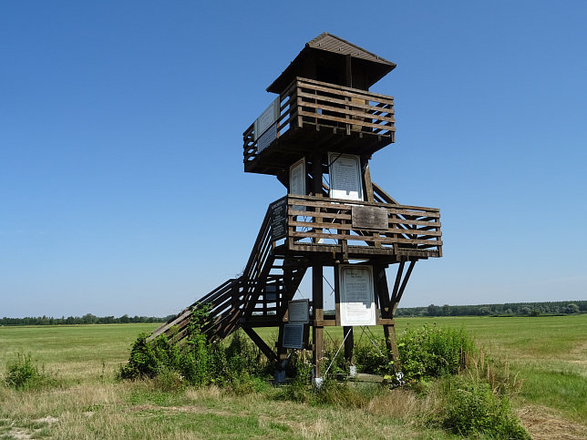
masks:
[[[464,327],[487,356],[507,362],[522,381],[512,405],[534,438],[587,438],[587,315],[402,318],[397,333],[424,324]],[[17,353],[30,353],[57,381],[33,391],[0,386],[0,438],[455,438],[423,427],[431,403],[401,389],[348,408],[276,401],[269,385],[239,395],[116,382],[136,336],[157,325],[0,327],[0,375]],[[275,331],[262,335],[272,340]],[[355,342],[366,337],[355,329]],[[341,341],[342,329],[325,338]]]

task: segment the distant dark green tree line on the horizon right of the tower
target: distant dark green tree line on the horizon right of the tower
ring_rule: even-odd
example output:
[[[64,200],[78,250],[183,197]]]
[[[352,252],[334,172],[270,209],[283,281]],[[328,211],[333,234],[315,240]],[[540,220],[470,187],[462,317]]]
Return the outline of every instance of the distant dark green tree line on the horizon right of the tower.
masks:
[[[538,316],[587,313],[587,301],[507,302],[504,304],[402,307],[396,316]]]

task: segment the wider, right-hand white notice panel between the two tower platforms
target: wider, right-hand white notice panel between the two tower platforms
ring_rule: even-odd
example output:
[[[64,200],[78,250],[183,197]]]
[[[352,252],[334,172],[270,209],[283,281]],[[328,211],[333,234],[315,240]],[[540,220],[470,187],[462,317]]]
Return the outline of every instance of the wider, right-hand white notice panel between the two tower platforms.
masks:
[[[328,153],[330,197],[363,200],[361,158],[355,154]]]

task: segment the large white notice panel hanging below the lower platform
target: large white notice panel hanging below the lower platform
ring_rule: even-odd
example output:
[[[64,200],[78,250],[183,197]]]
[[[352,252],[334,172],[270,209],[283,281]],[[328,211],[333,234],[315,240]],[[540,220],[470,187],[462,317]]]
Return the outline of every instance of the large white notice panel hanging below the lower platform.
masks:
[[[375,325],[376,306],[373,267],[358,264],[338,266],[340,324]]]

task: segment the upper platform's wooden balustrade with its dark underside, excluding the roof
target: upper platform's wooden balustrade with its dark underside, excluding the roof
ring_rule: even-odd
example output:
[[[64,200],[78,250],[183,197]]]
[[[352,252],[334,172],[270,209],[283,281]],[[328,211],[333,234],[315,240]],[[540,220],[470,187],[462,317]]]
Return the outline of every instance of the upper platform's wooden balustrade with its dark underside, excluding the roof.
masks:
[[[242,135],[245,171],[274,174],[291,155],[326,145],[371,155],[395,140],[393,97],[297,77],[279,102],[271,130],[255,133],[252,124]]]

